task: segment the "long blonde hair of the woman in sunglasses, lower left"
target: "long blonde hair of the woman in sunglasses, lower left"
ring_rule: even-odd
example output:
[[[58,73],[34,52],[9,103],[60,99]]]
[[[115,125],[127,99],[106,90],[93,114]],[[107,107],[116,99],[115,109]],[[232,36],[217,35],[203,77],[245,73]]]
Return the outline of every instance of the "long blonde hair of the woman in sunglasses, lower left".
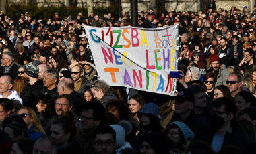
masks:
[[[34,125],[34,131],[40,132],[43,135],[46,135],[44,129],[42,128],[42,125],[40,123],[40,120],[38,119],[38,117],[36,116],[36,112],[34,112],[33,108],[30,108],[28,106],[26,107],[22,107],[21,109],[25,109],[28,110],[28,114],[30,115],[30,117],[32,117],[33,121],[32,124]]]

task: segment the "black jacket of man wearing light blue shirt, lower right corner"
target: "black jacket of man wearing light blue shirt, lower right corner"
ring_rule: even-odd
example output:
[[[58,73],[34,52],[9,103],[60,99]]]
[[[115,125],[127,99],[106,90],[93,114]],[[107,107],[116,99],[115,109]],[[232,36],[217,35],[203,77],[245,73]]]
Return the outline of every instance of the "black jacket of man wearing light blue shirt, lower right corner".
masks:
[[[232,133],[226,132],[224,141],[222,143],[222,148],[226,145],[234,145],[241,149],[243,153],[256,153],[255,143],[247,137],[245,130],[242,125],[237,121],[231,121]],[[201,140],[206,141],[207,143],[212,143],[216,129],[211,127],[207,131],[203,131]]]

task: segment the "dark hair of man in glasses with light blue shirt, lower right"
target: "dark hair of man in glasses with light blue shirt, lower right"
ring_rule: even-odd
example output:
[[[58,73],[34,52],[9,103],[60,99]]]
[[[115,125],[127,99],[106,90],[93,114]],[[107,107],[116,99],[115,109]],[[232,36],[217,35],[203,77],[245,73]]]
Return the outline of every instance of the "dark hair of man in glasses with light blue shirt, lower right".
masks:
[[[232,100],[226,97],[217,98],[212,101],[212,106],[215,108],[219,108],[220,106],[224,105],[224,110],[227,114],[234,114],[234,119],[236,119],[236,106]]]

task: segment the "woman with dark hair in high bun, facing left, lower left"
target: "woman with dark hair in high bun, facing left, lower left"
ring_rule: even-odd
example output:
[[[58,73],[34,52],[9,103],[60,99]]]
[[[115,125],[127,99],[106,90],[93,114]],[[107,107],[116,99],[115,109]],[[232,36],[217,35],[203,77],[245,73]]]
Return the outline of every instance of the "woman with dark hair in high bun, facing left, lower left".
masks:
[[[75,139],[77,128],[75,127],[75,114],[72,111],[61,114],[51,125],[51,137],[57,143],[57,153],[82,153],[79,143]]]

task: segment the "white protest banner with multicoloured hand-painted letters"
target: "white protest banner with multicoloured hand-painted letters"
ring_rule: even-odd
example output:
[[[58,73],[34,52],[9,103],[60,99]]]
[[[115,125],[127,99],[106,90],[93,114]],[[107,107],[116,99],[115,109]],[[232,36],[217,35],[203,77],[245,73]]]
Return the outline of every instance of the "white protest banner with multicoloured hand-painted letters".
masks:
[[[169,78],[169,72],[177,70],[178,25],[84,29],[101,80],[110,86],[174,94],[177,80]]]

